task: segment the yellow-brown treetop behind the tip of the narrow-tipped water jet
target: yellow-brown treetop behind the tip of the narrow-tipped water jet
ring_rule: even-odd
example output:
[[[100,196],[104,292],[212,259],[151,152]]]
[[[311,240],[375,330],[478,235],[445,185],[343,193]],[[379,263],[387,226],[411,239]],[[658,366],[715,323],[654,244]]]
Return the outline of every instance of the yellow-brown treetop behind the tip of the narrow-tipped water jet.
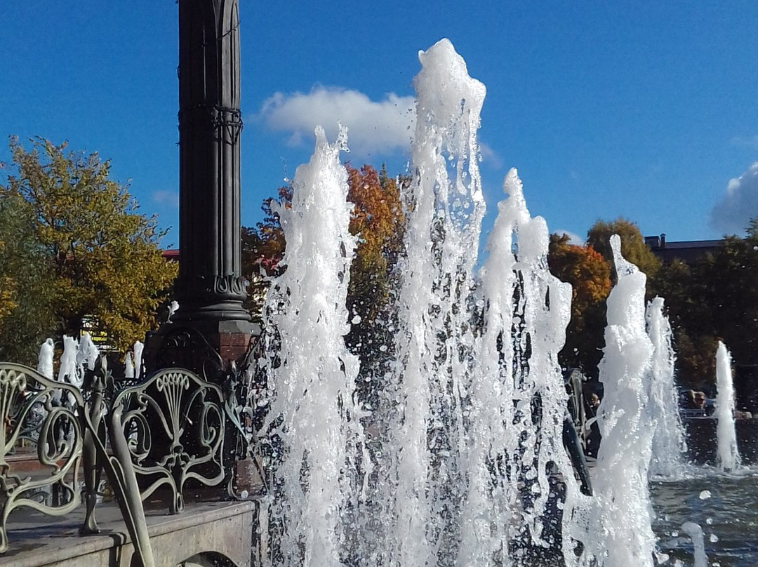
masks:
[[[587,231],[587,244],[592,246],[597,252],[606,258],[606,261],[613,265],[613,253],[610,245],[612,234],[618,234],[621,238],[621,253],[632,264],[640,268],[647,277],[656,276],[661,262],[655,254],[645,244],[642,233],[637,224],[617,218],[615,221],[595,221],[595,224]],[[615,268],[612,272],[612,279],[615,281]]]

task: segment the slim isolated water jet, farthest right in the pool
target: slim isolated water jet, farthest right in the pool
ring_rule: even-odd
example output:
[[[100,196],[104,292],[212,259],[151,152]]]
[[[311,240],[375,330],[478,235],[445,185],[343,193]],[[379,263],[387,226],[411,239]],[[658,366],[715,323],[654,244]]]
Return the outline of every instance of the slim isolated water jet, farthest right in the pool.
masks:
[[[731,380],[731,355],[719,341],[716,349],[716,439],[719,447],[719,469],[734,471],[740,465],[735,432],[735,389]]]

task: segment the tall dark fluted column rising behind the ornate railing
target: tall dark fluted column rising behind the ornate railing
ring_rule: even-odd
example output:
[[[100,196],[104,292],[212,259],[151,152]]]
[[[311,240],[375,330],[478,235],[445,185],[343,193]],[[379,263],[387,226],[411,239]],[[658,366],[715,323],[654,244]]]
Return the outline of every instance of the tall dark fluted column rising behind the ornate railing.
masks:
[[[155,367],[193,369],[186,352],[170,352],[168,343],[179,343],[168,336],[180,328],[199,331],[224,365],[245,353],[258,330],[243,309],[237,0],[180,0],[178,73],[180,307],[152,341],[165,339]]]

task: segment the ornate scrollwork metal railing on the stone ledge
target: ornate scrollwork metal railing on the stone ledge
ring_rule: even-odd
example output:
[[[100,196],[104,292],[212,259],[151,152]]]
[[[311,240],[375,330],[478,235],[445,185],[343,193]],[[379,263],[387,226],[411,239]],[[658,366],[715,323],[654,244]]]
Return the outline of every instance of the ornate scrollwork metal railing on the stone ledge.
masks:
[[[188,487],[223,487],[233,497],[230,459],[240,456],[240,438],[243,451],[249,449],[228,384],[239,378],[230,368],[222,390],[183,368],[164,368],[124,384],[99,362],[80,391],[33,368],[0,362],[0,553],[8,550],[8,516],[23,506],[64,515],[83,495],[80,532],[98,533],[105,472],[136,553],[151,567],[143,500],[160,496],[175,514]],[[35,451],[33,473],[9,464],[23,443]]]

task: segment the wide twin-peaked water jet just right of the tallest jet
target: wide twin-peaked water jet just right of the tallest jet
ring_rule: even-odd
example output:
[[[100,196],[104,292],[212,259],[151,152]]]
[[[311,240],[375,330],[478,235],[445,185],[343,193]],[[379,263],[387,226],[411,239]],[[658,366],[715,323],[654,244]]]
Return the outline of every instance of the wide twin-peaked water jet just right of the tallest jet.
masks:
[[[480,273],[482,330],[467,406],[459,565],[512,565],[536,560],[535,548],[560,549],[545,540],[559,526],[549,536],[542,524],[549,497],[557,500],[551,464],[563,474],[572,503],[578,494],[561,443],[567,395],[557,363],[571,287],[547,269],[547,224],[529,215],[515,169],[503,190],[507,199],[498,203]],[[564,517],[572,510],[565,506]],[[553,516],[557,522],[555,510]]]

